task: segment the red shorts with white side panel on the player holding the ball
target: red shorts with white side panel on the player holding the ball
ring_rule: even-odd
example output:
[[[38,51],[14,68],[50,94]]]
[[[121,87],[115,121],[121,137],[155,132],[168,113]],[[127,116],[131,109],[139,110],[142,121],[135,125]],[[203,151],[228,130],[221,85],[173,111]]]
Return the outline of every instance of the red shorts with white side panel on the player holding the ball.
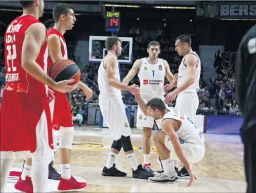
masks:
[[[0,130],[1,152],[24,153],[24,157],[32,153],[37,159],[53,154],[51,112],[46,95],[4,90]]]

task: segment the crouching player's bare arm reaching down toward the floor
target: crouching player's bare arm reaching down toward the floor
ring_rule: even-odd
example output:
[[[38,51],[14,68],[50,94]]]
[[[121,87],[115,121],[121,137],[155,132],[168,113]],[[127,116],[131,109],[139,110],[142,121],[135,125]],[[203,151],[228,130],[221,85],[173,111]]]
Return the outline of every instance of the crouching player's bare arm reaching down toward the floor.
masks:
[[[182,162],[184,167],[190,171],[191,168],[189,167],[189,162],[185,156],[185,153],[181,147],[180,139],[175,131],[178,130],[179,124],[176,120],[173,119],[164,119],[162,121],[162,129],[166,133],[166,135],[169,137],[170,141],[173,144],[174,151],[179,158],[179,160]]]

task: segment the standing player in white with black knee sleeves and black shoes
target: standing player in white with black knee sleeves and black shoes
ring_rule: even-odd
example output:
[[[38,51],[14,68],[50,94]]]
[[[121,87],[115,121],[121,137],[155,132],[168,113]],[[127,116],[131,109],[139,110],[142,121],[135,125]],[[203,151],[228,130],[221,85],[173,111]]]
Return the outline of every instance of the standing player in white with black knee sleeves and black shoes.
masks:
[[[102,60],[98,70],[98,85],[100,89],[99,105],[104,121],[114,137],[103,176],[126,176],[115,167],[115,159],[121,148],[133,166],[133,177],[148,179],[154,174],[144,170],[139,165],[133,150],[130,135],[132,134],[122,102],[121,90],[133,94],[140,92],[139,87],[127,86],[120,82],[117,57],[121,55],[121,39],[115,36],[108,37],[105,41],[108,55]]]

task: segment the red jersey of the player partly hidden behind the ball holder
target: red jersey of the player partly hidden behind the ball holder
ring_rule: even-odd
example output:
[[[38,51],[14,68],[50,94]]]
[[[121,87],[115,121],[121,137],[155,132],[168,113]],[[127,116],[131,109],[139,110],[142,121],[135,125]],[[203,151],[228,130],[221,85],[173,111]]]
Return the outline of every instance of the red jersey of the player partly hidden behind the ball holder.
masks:
[[[66,45],[64,36],[58,30],[56,30],[54,28],[50,28],[49,30],[47,30],[48,37],[52,34],[56,34],[59,36],[60,42],[61,42],[62,57],[63,57],[63,59],[68,59],[67,45]],[[49,71],[50,71],[52,65],[53,65],[53,60],[52,60],[51,56],[48,56],[48,74],[49,74]]]

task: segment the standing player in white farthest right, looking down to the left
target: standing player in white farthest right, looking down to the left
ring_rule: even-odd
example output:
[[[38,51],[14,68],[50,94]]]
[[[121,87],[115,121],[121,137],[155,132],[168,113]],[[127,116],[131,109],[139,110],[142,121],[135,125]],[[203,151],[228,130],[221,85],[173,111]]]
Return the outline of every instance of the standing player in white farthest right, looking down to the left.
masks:
[[[175,109],[187,115],[192,121],[195,120],[196,110],[199,105],[197,91],[201,73],[201,62],[198,55],[191,49],[191,38],[181,35],[176,38],[175,50],[179,56],[183,56],[178,72],[177,88],[165,96],[165,104],[172,103],[177,96]],[[169,90],[173,85],[165,85]],[[178,161],[175,161],[178,167]],[[192,167],[192,166],[190,166]],[[183,167],[178,172],[179,178],[189,179],[189,173]]]

